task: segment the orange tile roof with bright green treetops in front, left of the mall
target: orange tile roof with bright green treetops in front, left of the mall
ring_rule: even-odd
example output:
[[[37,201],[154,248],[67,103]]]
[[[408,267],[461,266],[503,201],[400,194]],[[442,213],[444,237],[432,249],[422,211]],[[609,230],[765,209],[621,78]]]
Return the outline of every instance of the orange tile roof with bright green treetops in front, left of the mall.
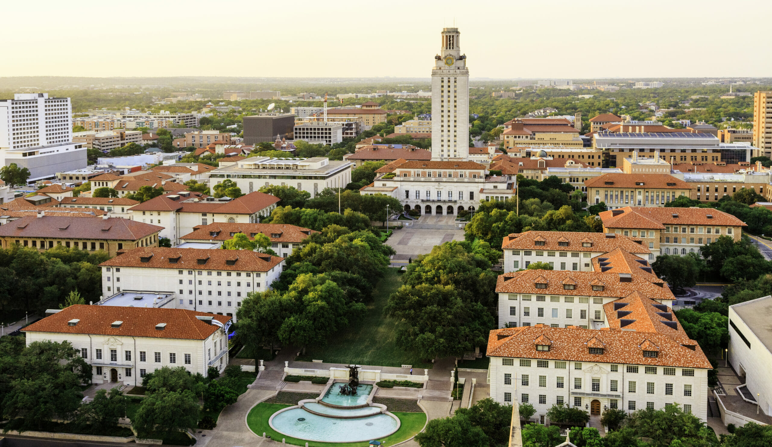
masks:
[[[272,242],[291,242],[299,244],[310,234],[319,233],[309,228],[289,224],[229,224],[215,223],[199,225],[192,233],[181,236],[182,240],[229,240],[235,233],[246,234],[249,240],[254,240],[253,234],[262,233],[271,238]],[[273,235],[278,234],[278,237]]]

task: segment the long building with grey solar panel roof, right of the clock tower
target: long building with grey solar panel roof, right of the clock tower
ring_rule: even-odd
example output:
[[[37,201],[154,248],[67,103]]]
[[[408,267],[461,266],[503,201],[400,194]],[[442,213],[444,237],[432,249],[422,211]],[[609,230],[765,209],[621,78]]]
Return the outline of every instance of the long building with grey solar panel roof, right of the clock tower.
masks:
[[[599,132],[593,136],[593,148],[604,152],[604,167],[620,167],[625,158],[653,158],[659,152],[671,164],[748,162],[760,152],[743,143],[721,143],[710,133],[689,132]]]

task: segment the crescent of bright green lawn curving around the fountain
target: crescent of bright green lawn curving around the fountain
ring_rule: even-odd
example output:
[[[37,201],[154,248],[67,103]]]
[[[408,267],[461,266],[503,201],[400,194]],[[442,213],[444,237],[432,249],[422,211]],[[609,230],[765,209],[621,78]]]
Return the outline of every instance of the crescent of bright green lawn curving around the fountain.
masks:
[[[305,440],[289,438],[286,435],[282,435],[279,432],[271,429],[268,425],[268,419],[273,413],[278,412],[282,408],[286,408],[292,405],[281,404],[267,404],[262,402],[249,412],[246,417],[246,423],[249,425],[249,429],[255,432],[258,436],[262,436],[265,432],[271,439],[281,442],[281,439],[286,439],[287,444],[293,445],[306,445]],[[426,424],[425,413],[402,413],[392,412],[400,420],[400,427],[397,432],[389,435],[385,438],[378,439],[378,441],[384,442],[386,445],[394,445],[397,442],[405,441],[405,439],[411,438],[416,433],[420,432]],[[309,447],[367,447],[367,441],[365,442],[308,442]]]

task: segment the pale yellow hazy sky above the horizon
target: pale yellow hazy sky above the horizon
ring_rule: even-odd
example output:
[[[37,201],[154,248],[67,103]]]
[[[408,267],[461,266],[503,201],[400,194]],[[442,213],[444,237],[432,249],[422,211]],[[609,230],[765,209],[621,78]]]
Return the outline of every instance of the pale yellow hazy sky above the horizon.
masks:
[[[6,0],[0,11],[0,76],[428,77],[454,19],[473,78],[772,76],[762,0]]]

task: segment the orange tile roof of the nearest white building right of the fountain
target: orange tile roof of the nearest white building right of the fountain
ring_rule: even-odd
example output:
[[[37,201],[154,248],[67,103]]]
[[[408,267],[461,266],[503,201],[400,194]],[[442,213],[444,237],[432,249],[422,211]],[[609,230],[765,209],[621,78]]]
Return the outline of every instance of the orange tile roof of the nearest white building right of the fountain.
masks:
[[[543,335],[552,341],[549,351],[537,351],[533,340]],[[586,341],[602,338],[603,353],[591,354]],[[647,344],[647,341],[649,344]],[[644,357],[642,347],[655,345],[657,357]],[[581,361],[588,364],[615,363],[680,368],[713,368],[696,341],[672,338],[656,332],[582,329],[577,326],[550,328],[545,324],[496,329],[488,338],[489,357],[535,358]]]

